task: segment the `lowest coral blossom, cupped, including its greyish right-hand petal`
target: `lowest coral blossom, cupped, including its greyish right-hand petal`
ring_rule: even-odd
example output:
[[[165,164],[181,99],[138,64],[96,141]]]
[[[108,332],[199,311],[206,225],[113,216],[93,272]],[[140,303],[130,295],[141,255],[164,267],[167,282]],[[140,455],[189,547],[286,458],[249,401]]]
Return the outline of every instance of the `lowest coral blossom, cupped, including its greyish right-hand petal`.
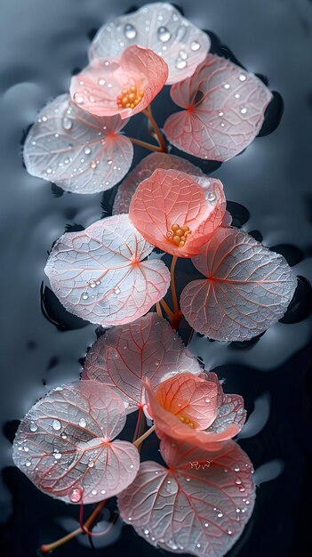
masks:
[[[160,438],[165,434],[213,448],[215,443],[234,437],[244,424],[244,400],[225,395],[214,374],[176,375],[160,383],[156,392],[148,380],[145,386],[148,413]]]

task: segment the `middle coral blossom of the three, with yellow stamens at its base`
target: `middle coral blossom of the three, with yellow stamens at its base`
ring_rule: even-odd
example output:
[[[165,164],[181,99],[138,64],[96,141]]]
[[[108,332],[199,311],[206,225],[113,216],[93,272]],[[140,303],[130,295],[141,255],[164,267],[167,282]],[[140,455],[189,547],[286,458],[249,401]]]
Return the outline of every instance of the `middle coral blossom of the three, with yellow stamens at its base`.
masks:
[[[135,191],[129,217],[154,246],[168,254],[191,257],[212,237],[225,210],[220,180],[156,170]]]

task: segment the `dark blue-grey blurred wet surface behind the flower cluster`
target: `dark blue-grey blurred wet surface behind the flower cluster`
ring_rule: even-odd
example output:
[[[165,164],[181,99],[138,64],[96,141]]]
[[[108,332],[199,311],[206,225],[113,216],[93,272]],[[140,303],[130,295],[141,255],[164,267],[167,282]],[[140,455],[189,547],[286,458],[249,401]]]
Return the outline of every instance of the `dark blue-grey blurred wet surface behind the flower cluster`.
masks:
[[[189,20],[209,31],[212,52],[235,60],[234,55],[277,92],[262,137],[243,154],[220,167],[188,158],[224,183],[234,224],[284,254],[300,276],[283,322],[256,342],[213,343],[195,335],[191,344],[207,369],[227,379],[226,392],[244,396],[251,415],[239,442],[257,469],[260,487],[252,520],[229,555],[309,557],[312,4],[308,0],[185,0],[179,5]],[[131,7],[125,0],[1,0],[0,4],[0,547],[4,557],[33,557],[39,545],[77,526],[76,506],[45,496],[12,467],[12,438],[18,420],[39,397],[79,377],[81,359],[96,338],[94,326],[72,318],[55,302],[44,278],[47,251],[64,230],[86,227],[109,214],[116,192],[104,197],[62,194],[26,173],[21,145],[37,111],[67,91],[70,75],[86,65],[95,29]],[[173,108],[167,95],[164,91],[155,101],[160,125]],[[138,136],[148,137],[143,117],[136,117],[132,125]],[[136,149],[133,164],[146,154]],[[185,278],[190,267],[179,265],[178,272]],[[143,458],[154,457],[156,448],[156,440],[148,440]],[[103,520],[115,508],[113,501]],[[90,507],[85,509],[86,515],[89,512]],[[110,537],[94,538],[94,545],[100,545],[98,554],[159,555],[130,527],[124,527],[122,536],[121,529],[117,522]],[[116,544],[101,549],[108,539],[116,539]],[[88,539],[81,537],[55,554],[88,557],[92,552]]]

